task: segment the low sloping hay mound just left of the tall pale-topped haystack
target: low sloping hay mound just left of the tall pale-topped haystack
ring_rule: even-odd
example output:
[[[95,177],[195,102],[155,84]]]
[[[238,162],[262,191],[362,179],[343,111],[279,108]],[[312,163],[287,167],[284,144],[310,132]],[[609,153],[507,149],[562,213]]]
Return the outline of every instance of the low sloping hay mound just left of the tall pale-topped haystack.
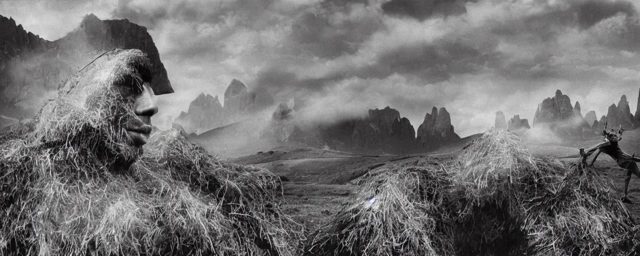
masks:
[[[312,234],[304,255],[441,255],[443,205],[449,190],[444,170],[393,168],[371,177],[332,221]]]

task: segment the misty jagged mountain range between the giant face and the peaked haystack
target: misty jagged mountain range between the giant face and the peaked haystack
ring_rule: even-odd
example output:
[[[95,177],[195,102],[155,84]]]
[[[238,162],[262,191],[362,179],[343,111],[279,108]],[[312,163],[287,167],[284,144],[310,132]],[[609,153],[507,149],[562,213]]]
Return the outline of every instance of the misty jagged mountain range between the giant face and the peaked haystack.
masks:
[[[184,129],[191,140],[212,152],[296,143],[347,152],[409,154],[428,152],[460,138],[445,108],[431,109],[416,132],[407,118],[389,107],[369,109],[361,117],[309,124],[302,116],[304,109],[294,108],[294,100],[292,106],[277,106],[271,118],[257,115],[264,108],[255,104],[255,97],[234,79],[225,92],[224,107],[218,96],[202,93],[191,102],[188,112],[174,120],[173,127]]]

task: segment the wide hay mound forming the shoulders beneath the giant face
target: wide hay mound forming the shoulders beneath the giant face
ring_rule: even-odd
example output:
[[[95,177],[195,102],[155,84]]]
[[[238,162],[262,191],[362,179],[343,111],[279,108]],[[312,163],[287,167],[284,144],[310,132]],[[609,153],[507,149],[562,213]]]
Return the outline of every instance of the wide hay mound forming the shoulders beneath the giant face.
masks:
[[[175,130],[148,145],[130,173],[79,179],[28,148],[4,158],[0,218],[13,221],[0,224],[0,254],[292,255],[277,176],[221,163]]]

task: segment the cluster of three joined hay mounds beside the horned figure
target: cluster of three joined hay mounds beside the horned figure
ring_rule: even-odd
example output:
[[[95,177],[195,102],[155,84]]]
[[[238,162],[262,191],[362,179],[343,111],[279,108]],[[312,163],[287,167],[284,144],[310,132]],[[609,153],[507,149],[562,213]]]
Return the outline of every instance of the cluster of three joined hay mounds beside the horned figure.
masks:
[[[621,255],[634,250],[636,227],[599,170],[531,157],[521,140],[504,131],[487,132],[456,160],[448,172],[409,167],[369,177],[349,205],[308,238],[305,253]],[[368,196],[375,196],[370,205]]]

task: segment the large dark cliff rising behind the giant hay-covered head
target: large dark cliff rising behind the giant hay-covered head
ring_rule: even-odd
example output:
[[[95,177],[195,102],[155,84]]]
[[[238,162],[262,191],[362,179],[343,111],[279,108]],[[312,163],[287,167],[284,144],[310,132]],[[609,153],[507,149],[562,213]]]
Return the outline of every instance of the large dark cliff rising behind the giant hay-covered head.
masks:
[[[109,49],[141,49],[153,63],[152,88],[172,93],[171,83],[147,29],[128,20],[87,15],[77,29],[49,42],[0,16],[0,114],[31,118],[58,84]]]

